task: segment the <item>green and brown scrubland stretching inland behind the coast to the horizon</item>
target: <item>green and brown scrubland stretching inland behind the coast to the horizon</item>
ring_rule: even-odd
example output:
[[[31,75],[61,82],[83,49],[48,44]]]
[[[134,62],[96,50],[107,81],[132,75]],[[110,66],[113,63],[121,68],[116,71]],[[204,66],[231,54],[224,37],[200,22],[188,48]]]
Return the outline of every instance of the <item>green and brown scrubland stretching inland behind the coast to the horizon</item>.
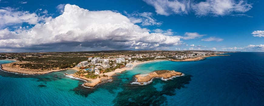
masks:
[[[39,53],[0,53],[0,59],[16,59],[19,61],[29,61],[27,63],[19,64],[21,68],[30,68],[30,69],[43,69],[51,70],[57,68],[72,68],[77,65],[80,61],[87,61],[89,57],[101,57],[108,58],[113,57],[117,58],[120,55],[124,56],[136,56],[142,54],[152,55],[184,55],[192,53],[193,51],[80,51],[80,52],[39,52]],[[201,52],[201,51],[200,51]],[[214,51],[203,51],[203,52],[214,52]],[[225,52],[226,53],[226,52]],[[154,60],[154,57],[143,58],[132,58],[131,60],[137,61],[150,61]],[[112,66],[114,61],[109,61],[109,65]],[[126,65],[127,63],[124,63]],[[120,65],[116,67],[107,68],[104,72],[110,72],[117,68],[120,68]]]

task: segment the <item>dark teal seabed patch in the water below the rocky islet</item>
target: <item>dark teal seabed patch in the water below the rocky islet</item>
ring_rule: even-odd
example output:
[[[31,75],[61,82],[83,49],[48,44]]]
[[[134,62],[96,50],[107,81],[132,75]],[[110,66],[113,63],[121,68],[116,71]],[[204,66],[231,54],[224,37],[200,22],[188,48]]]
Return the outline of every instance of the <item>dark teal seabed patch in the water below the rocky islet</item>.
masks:
[[[162,91],[154,88],[154,82],[161,81],[154,79],[153,83],[147,85],[124,84],[124,90],[118,93],[114,99],[115,105],[161,105],[166,104],[166,97],[163,95],[175,95],[175,89],[184,88],[184,84],[189,84],[191,75],[185,75],[174,78],[170,81],[162,81],[164,83]]]

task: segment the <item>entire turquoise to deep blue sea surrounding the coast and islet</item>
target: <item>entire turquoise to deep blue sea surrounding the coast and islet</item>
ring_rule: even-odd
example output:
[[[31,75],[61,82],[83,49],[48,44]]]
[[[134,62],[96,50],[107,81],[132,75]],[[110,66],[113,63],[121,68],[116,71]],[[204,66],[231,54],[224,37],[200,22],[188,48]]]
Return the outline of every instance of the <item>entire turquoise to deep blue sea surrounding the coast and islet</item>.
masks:
[[[229,53],[202,61],[141,64],[94,89],[64,73],[22,75],[0,71],[0,105],[264,105],[264,52]],[[1,60],[0,64],[11,61]],[[134,75],[175,70],[185,76],[137,85]]]

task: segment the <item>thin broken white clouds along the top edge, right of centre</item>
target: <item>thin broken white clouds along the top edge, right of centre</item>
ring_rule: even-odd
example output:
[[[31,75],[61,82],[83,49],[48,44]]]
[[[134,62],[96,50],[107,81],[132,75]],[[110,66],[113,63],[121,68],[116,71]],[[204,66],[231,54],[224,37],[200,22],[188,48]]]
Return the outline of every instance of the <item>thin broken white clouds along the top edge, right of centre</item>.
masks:
[[[252,8],[243,0],[206,0],[196,2],[191,0],[143,0],[155,8],[157,14],[188,14],[191,10],[197,16],[224,16],[244,13]],[[236,15],[235,15],[236,16]]]

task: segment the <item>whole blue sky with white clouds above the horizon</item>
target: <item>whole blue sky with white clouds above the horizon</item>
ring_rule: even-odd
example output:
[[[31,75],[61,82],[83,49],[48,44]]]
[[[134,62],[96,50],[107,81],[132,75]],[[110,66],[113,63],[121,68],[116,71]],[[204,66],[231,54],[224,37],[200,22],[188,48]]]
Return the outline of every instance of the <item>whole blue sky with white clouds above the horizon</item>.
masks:
[[[0,52],[263,52],[263,4],[263,0],[0,0]]]

